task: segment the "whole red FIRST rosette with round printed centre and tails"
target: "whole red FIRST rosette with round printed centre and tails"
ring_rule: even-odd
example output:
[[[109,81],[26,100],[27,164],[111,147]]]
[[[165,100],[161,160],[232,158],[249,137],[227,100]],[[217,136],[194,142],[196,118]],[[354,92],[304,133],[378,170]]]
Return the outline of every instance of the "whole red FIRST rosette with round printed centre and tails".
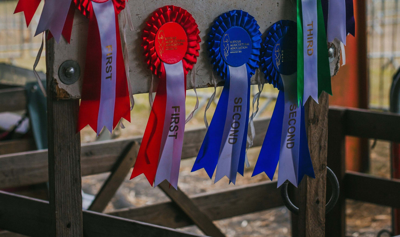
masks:
[[[151,185],[167,180],[178,187],[186,74],[199,55],[199,33],[192,15],[177,6],[159,8],[146,22],[144,56],[160,81],[131,179],[143,173]]]

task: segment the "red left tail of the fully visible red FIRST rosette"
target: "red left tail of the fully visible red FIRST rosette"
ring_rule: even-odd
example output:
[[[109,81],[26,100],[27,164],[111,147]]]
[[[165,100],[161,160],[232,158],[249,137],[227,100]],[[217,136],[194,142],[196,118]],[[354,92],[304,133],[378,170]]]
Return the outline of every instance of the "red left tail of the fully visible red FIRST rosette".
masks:
[[[158,84],[156,97],[154,98],[150,117],[146,125],[146,130],[144,131],[142,144],[140,145],[138,157],[130,177],[133,179],[140,174],[144,174],[152,186],[154,178],[156,177],[158,159],[160,157],[166,100],[166,74],[164,64],[162,64],[162,74]]]

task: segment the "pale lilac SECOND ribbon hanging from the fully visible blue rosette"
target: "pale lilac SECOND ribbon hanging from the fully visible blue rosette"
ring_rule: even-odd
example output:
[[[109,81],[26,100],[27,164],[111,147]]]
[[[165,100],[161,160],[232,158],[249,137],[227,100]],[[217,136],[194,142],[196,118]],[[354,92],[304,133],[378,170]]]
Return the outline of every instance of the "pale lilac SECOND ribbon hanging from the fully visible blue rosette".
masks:
[[[228,66],[228,69],[230,74],[228,110],[214,183],[226,176],[235,184],[246,126],[248,79],[246,64],[238,67]]]

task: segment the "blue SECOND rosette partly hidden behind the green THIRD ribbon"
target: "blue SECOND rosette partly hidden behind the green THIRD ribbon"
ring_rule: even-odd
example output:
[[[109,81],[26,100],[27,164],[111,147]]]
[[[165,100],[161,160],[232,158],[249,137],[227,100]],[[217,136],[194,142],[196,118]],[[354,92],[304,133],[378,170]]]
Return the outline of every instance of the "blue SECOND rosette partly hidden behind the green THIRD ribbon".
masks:
[[[260,56],[266,81],[279,94],[252,176],[265,172],[272,180],[279,162],[278,187],[286,180],[297,187],[304,175],[315,178],[304,107],[299,108],[297,101],[296,34],[296,22],[276,22],[267,32]]]

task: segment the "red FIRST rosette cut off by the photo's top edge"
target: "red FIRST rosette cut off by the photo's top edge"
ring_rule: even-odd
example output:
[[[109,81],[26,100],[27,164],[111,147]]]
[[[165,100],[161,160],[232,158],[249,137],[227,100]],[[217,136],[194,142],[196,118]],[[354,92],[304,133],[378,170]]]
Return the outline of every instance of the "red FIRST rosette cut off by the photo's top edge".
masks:
[[[121,118],[130,121],[118,26],[118,14],[125,8],[125,0],[74,0],[74,3],[89,18],[78,130],[89,125],[99,135],[104,127],[111,132]]]

